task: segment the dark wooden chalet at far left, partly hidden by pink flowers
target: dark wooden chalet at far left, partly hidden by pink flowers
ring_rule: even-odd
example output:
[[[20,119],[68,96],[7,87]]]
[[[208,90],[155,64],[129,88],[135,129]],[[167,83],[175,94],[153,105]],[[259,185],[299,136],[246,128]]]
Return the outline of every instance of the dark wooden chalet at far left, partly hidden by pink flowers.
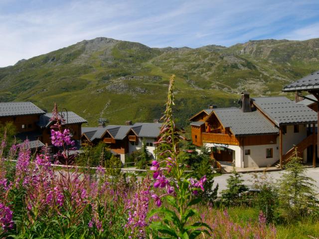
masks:
[[[16,137],[22,141],[29,140],[31,149],[50,145],[51,113],[46,113],[31,102],[0,103],[0,123],[12,122],[16,127]],[[73,134],[73,139],[80,145],[81,124],[87,122],[73,112],[64,114],[65,127]]]

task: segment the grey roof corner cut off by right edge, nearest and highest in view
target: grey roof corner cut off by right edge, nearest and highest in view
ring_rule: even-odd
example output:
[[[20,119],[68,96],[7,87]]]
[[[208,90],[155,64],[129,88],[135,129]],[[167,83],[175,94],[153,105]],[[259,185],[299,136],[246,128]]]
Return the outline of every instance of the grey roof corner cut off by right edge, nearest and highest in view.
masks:
[[[312,91],[319,90],[319,71],[301,78],[287,86],[284,86],[284,92],[291,91]]]

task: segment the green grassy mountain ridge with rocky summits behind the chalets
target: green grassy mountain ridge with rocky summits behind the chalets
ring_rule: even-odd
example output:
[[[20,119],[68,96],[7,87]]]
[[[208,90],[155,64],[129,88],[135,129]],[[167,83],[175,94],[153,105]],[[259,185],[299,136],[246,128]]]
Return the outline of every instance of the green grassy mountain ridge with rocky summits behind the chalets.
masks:
[[[235,105],[243,90],[283,94],[283,85],[318,69],[319,38],[192,49],[99,37],[0,68],[0,101],[32,101],[47,111],[57,102],[90,125],[99,118],[152,121],[163,111],[168,78],[175,74],[175,114],[185,124],[209,104]]]

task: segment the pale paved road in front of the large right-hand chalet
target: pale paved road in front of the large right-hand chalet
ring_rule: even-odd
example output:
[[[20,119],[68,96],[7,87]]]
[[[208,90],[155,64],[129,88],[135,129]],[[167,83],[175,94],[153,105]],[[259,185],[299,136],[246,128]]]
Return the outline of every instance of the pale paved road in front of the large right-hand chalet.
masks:
[[[273,179],[274,182],[278,182],[280,179],[281,175],[283,173],[286,173],[286,170],[283,171],[275,171],[275,172],[267,172],[268,175]],[[257,175],[262,175],[263,173],[257,173]],[[308,177],[311,177],[316,180],[315,185],[317,185],[316,191],[319,193],[319,168],[307,168],[306,174]],[[218,183],[218,194],[220,194],[221,190],[226,189],[226,179],[230,176],[231,174],[222,174],[220,176],[214,177],[214,186]],[[244,179],[244,184],[247,186],[251,186],[253,184],[253,173],[243,173],[242,179]]]

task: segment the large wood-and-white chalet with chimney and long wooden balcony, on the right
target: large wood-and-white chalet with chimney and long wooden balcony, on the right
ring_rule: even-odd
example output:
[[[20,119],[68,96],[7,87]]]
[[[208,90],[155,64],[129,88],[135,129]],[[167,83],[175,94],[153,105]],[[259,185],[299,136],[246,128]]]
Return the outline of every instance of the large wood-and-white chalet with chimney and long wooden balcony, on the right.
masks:
[[[262,167],[294,155],[315,157],[317,114],[286,97],[250,99],[242,93],[240,108],[209,107],[190,120],[192,141],[211,148],[212,157],[236,167]]]

